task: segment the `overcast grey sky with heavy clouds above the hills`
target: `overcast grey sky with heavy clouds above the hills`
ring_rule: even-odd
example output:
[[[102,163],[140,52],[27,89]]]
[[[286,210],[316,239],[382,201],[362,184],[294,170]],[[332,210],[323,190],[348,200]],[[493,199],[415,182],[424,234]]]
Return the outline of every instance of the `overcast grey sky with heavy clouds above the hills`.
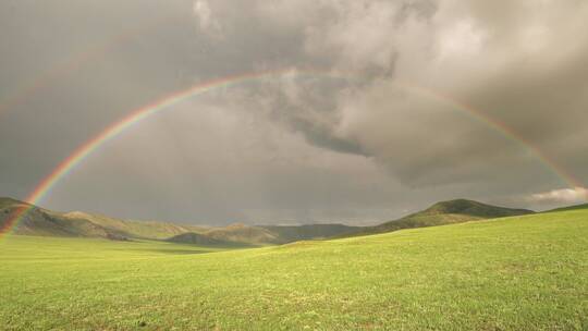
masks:
[[[373,224],[470,198],[586,201],[583,0],[1,1],[0,196],[224,225]]]

